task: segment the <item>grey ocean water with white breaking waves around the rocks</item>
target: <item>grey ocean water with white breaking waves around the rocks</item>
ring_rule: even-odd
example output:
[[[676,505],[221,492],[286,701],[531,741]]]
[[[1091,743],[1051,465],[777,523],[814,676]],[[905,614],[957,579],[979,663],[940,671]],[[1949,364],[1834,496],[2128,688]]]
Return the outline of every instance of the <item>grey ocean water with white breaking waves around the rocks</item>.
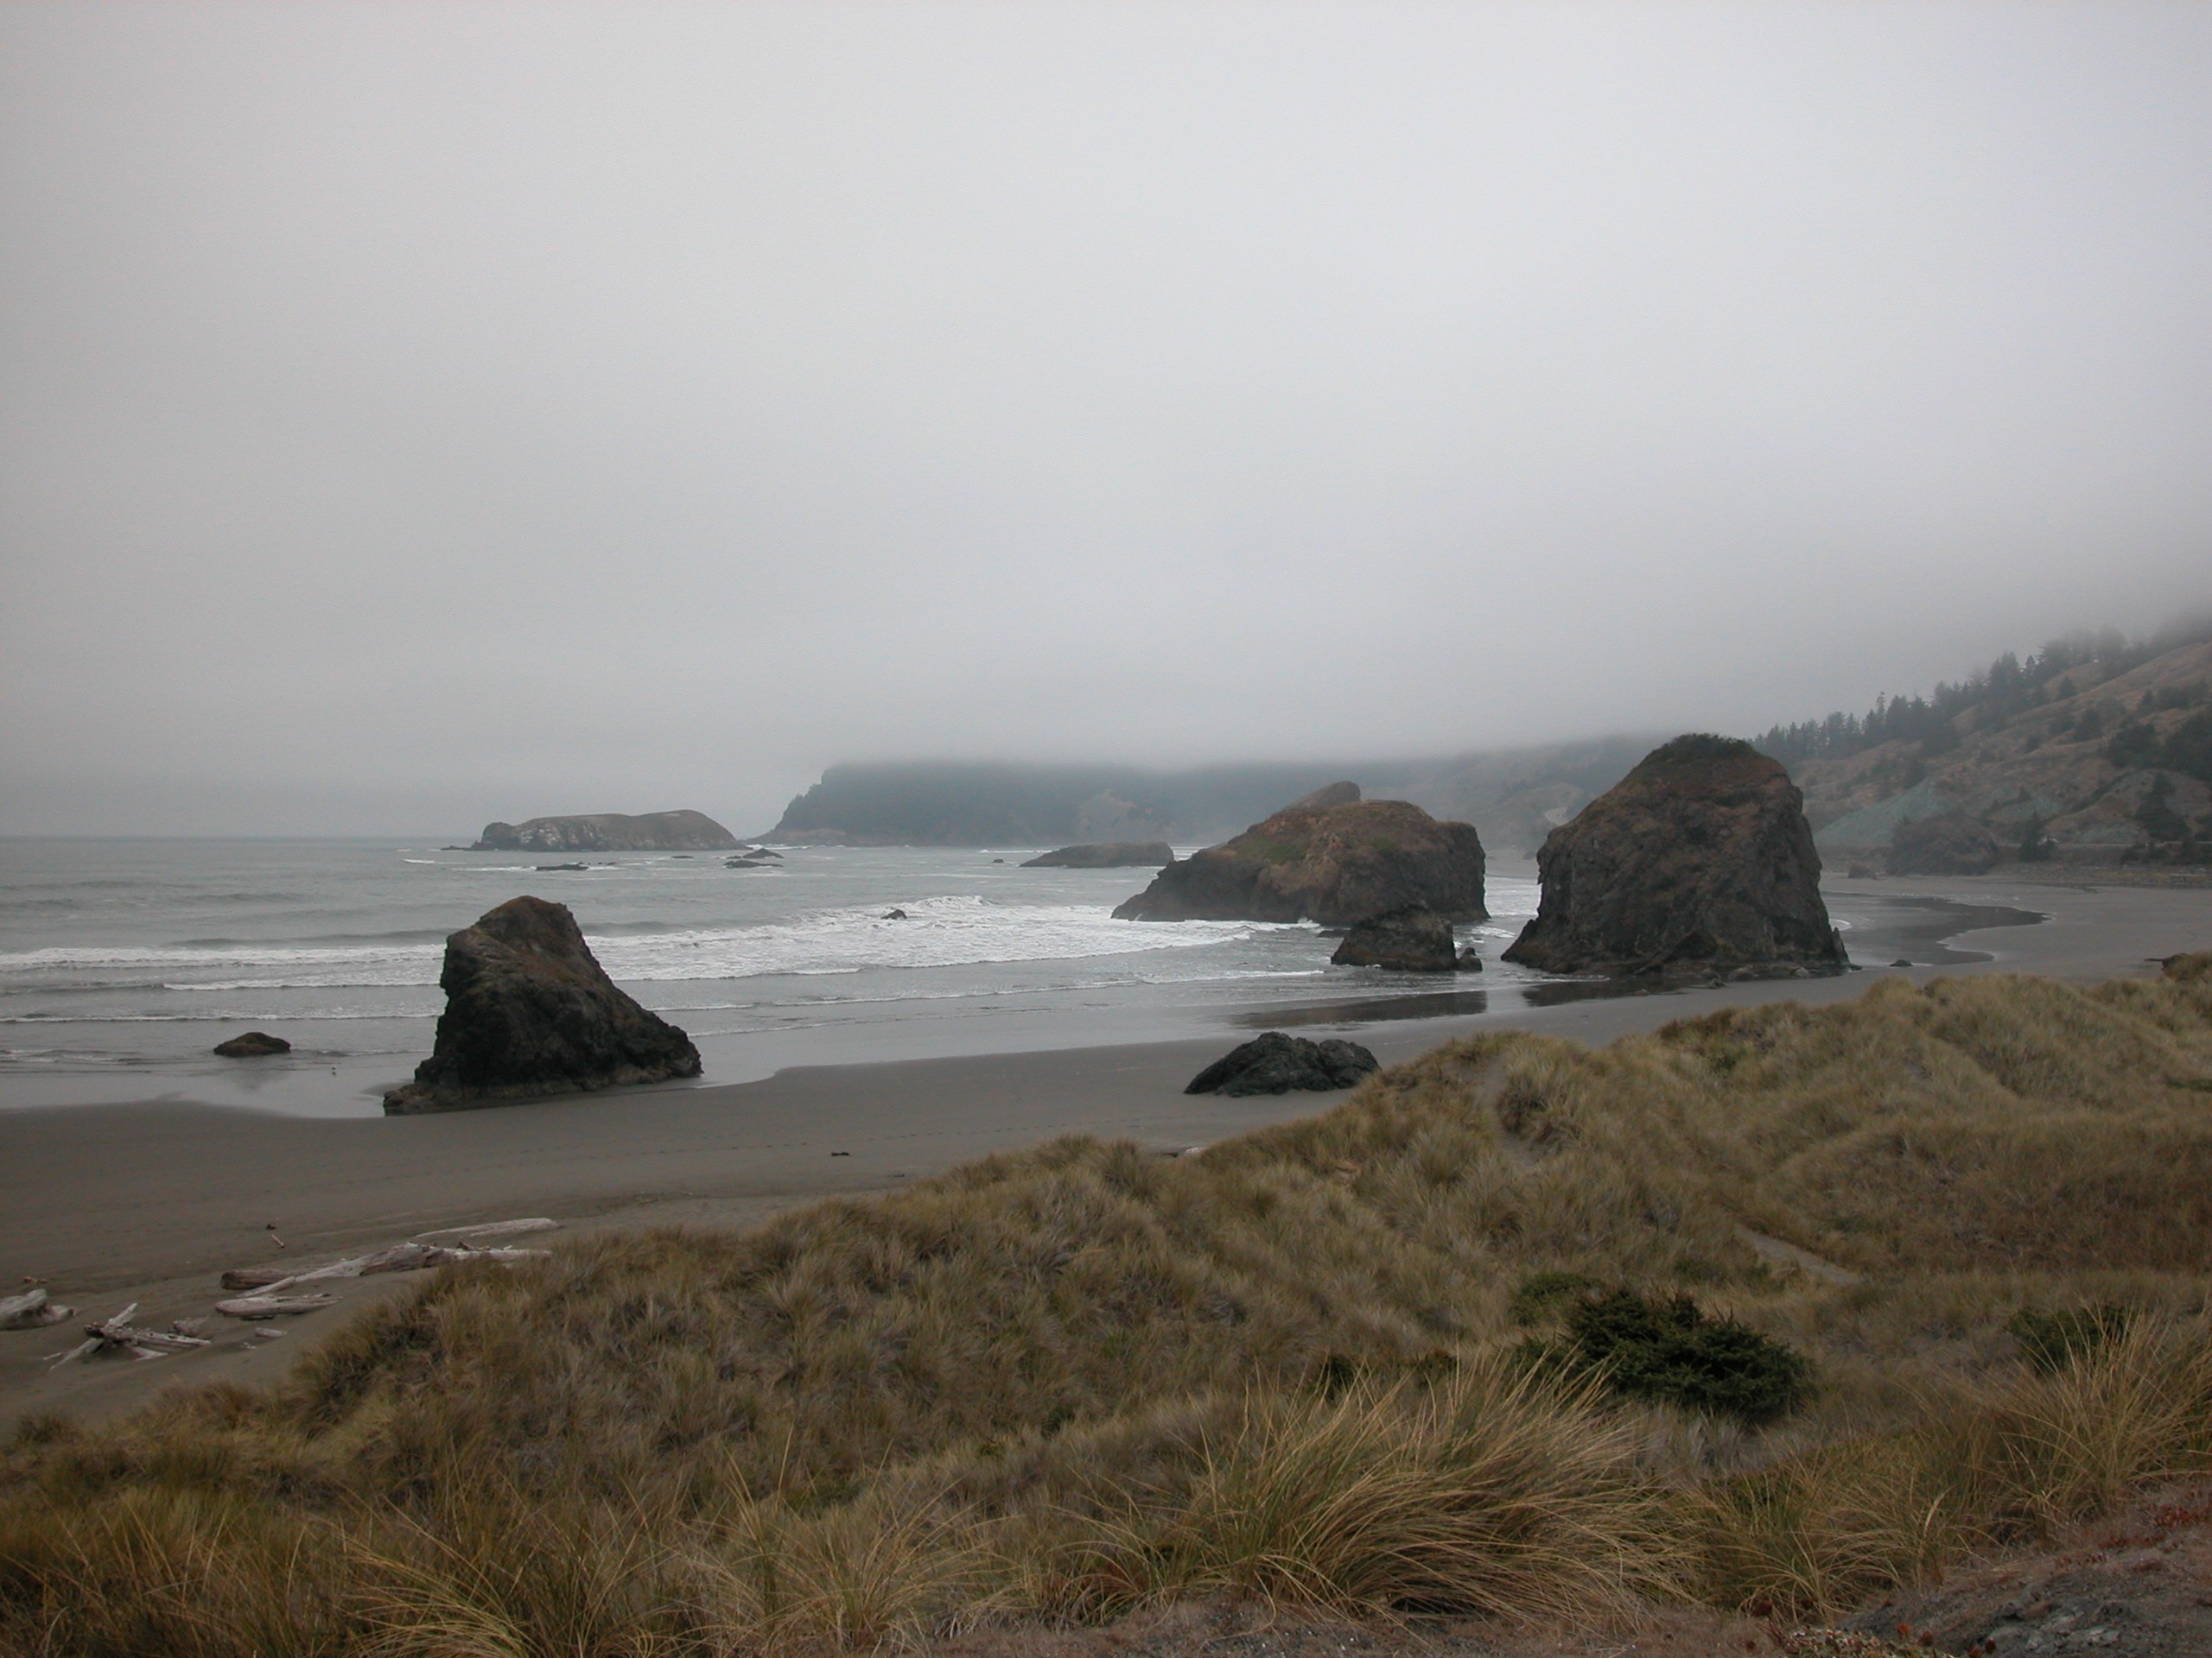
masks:
[[[1117,922],[1150,871],[1022,869],[1035,851],[787,847],[761,871],[721,853],[602,853],[549,871],[555,858],[369,840],[0,840],[0,1108],[376,1114],[431,1048],[445,935],[518,893],[568,904],[615,982],[699,1043],[706,1081],[1601,988],[1498,962],[1535,913],[1524,860],[1493,867],[1491,920],[1460,928],[1486,970],[1440,984],[1329,966],[1334,940],[1312,924]],[[294,1052],[208,1052],[239,1030]]]

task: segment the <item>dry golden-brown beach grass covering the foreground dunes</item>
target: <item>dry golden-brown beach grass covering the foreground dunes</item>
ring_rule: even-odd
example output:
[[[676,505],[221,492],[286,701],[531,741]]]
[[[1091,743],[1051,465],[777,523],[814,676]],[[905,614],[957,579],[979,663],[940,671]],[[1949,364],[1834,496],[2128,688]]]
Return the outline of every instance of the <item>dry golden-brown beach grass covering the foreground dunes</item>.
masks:
[[[2212,1466],[2208,968],[1482,1037],[1199,1156],[1057,1141],[447,1269],[270,1393],[27,1424],[0,1643],[768,1654],[1194,1596],[1834,1616]],[[1531,1360],[1537,1273],[1692,1295],[1814,1391],[1772,1421],[1621,1399]],[[2028,1364],[2017,1315],[2077,1307],[2128,1315]]]

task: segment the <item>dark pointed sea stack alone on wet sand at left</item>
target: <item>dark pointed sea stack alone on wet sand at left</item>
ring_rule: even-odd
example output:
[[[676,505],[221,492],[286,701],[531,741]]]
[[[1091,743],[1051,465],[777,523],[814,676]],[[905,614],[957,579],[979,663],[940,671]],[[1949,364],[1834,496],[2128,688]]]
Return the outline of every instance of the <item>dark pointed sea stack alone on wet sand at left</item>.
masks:
[[[453,1112],[617,1083],[697,1077],[699,1050],[624,995],[566,904],[511,898],[445,942],[445,1012],[385,1112]]]

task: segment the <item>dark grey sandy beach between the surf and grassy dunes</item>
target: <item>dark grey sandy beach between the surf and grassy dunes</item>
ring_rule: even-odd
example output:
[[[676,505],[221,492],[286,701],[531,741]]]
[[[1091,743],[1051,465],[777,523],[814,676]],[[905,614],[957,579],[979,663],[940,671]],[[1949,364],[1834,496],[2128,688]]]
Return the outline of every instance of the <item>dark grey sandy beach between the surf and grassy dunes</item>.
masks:
[[[1882,973],[1913,982],[2044,973],[2148,975],[2157,957],[2212,944],[2212,889],[2073,891],[2008,882],[1885,880],[1900,898],[2042,911],[2035,926],[1953,935],[1986,962],[1867,968],[1697,990],[1511,1006],[1347,1026],[1385,1063],[1482,1030],[1540,1030],[1601,1046],[1672,1019],[1763,1001],[1856,997]],[[1305,1026],[1312,1035],[1312,1026]],[[285,1116],[166,1099],[0,1112],[0,1280],[44,1280],[82,1318],[0,1333],[0,1426],[69,1408],[108,1415],[170,1382],[272,1382],[347,1307],[411,1276],[338,1280],[338,1304],[285,1320],[285,1340],[212,1320],[217,1344],[161,1362],[73,1364],[84,1318],[126,1302],[161,1326],[206,1315],[228,1267],[316,1262],[438,1227],[553,1216],[553,1238],[611,1227],[752,1225],[818,1198],[865,1198],[960,1163],[1064,1134],[1172,1152],[1343,1099],[1188,1096],[1183,1083],[1250,1032],[1124,1046],[796,1066],[761,1081],[661,1085],[429,1116]],[[272,1242],[281,1236],[285,1247]]]

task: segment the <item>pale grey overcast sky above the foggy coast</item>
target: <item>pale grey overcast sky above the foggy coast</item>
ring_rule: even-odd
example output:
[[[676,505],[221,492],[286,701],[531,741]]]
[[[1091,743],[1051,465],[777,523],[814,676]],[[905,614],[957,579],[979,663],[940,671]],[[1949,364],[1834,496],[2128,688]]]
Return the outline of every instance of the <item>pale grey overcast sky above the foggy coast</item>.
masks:
[[[0,831],[1761,730],[2212,601],[2212,7],[0,11]]]

